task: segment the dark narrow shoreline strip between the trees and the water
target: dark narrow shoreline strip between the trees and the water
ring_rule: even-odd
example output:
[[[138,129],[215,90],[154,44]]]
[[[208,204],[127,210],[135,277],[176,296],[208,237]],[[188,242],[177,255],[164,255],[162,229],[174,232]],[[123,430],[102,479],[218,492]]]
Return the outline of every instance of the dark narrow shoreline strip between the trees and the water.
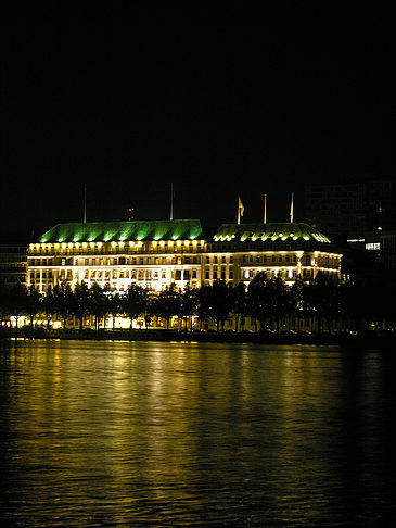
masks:
[[[178,331],[165,329],[140,330],[44,330],[36,328],[1,328],[0,339],[62,339],[93,341],[187,341],[213,343],[252,343],[252,344],[312,344],[336,345],[360,350],[396,350],[396,335],[267,335],[254,332],[205,332]]]

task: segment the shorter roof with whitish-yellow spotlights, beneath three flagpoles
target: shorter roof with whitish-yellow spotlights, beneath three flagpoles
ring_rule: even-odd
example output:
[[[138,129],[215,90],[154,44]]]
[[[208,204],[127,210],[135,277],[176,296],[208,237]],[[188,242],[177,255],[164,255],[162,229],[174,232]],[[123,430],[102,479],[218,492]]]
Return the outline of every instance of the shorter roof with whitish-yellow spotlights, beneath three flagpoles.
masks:
[[[330,243],[325,235],[308,224],[222,224],[213,237],[215,242],[291,242],[316,241]]]

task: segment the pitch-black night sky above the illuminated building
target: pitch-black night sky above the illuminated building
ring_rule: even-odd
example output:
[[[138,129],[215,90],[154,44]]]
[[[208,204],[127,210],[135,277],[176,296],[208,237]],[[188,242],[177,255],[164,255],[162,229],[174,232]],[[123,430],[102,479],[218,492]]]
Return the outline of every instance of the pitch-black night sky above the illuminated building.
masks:
[[[1,231],[60,222],[303,219],[304,184],[395,177],[386,16],[213,25],[169,10],[14,13],[2,64]],[[298,8],[298,9],[297,9]],[[173,16],[175,14],[175,16]],[[179,13],[178,13],[179,14]],[[230,14],[230,13],[229,13]],[[209,24],[210,22],[210,24]],[[243,21],[242,21],[243,22]],[[298,218],[298,215],[301,216]]]

